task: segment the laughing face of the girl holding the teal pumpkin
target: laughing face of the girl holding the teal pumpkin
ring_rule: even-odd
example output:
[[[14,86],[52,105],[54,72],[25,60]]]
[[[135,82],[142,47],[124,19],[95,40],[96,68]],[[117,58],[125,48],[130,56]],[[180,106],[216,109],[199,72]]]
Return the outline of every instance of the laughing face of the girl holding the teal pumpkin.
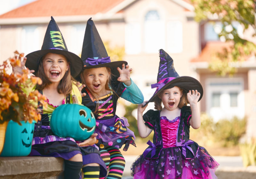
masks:
[[[68,71],[69,64],[65,56],[56,53],[47,53],[43,59],[44,74],[52,82],[60,80]]]

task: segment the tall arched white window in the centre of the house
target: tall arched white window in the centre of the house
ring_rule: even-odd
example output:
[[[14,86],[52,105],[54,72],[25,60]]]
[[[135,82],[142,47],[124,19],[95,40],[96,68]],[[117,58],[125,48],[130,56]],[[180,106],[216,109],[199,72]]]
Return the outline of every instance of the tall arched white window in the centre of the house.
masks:
[[[165,49],[165,24],[157,11],[149,11],[144,21],[144,51],[157,53]]]

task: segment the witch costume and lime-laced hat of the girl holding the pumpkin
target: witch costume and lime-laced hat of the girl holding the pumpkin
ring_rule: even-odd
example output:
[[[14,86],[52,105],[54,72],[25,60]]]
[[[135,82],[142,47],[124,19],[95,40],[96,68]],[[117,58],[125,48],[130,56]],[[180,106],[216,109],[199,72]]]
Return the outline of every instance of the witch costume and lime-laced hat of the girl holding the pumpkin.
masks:
[[[68,61],[70,62],[71,67],[71,75],[73,77],[76,77],[81,73],[79,69],[82,69],[81,64],[83,64],[82,59],[76,56],[75,54],[68,52],[66,43],[62,37],[62,34],[60,32],[60,29],[58,25],[56,24],[55,20],[52,18],[44,37],[44,43],[42,46],[41,51],[36,51],[28,54],[27,62],[25,64],[26,67],[29,69],[34,69],[35,71],[38,70],[38,64],[39,60],[47,54],[47,53],[57,53],[62,54],[65,57],[68,58]],[[35,72],[36,73],[36,72]],[[30,89],[23,89],[27,94],[29,94],[30,91],[35,90],[35,87],[32,87]],[[42,90],[39,90],[41,94],[43,94]],[[65,97],[63,99],[62,104],[72,104],[72,98],[70,98],[72,95],[76,95],[78,98],[78,103],[81,105],[82,97],[80,94],[80,91],[76,87],[75,84],[72,83],[72,92],[68,97]],[[49,125],[52,112],[58,107],[53,106],[49,103],[48,100],[48,107],[45,109],[40,102],[37,104],[34,104],[37,106],[38,113],[41,113],[42,119],[41,121],[38,121],[35,126],[35,132],[32,142],[32,151],[29,156],[51,156],[51,157],[61,157],[64,160],[69,160],[76,154],[82,154],[83,156],[83,162],[82,165],[90,164],[90,163],[98,163],[100,164],[100,171],[102,175],[107,175],[107,168],[105,166],[105,163],[100,158],[100,152],[97,148],[97,146],[86,146],[86,147],[79,147],[77,144],[82,141],[75,141],[71,137],[59,137],[55,136],[51,130],[51,127]],[[93,160],[93,162],[92,162]],[[73,164],[72,162],[66,162],[67,168],[68,166],[70,168],[74,168],[78,166],[78,163]],[[79,164],[80,165],[80,164]],[[79,167],[79,166],[78,166]],[[79,168],[78,168],[79,169]],[[81,175],[80,175],[81,176]],[[75,176],[73,176],[75,178]]]

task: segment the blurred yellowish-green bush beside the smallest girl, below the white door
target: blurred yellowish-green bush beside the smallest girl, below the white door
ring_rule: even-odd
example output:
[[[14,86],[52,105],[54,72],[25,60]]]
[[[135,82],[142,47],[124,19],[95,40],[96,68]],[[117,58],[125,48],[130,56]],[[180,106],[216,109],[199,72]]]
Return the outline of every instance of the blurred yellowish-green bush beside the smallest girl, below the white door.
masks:
[[[201,127],[190,128],[190,138],[199,145],[220,145],[223,147],[236,146],[239,139],[245,134],[246,120],[234,117],[231,120],[223,119],[214,123],[207,114],[201,114]]]

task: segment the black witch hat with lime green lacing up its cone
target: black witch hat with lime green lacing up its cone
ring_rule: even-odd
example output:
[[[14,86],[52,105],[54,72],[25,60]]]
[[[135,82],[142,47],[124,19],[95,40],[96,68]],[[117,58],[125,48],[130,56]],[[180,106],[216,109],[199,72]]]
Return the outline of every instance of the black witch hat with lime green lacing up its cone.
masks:
[[[68,51],[65,40],[53,17],[51,17],[51,21],[47,27],[41,50],[34,51],[26,55],[27,61],[25,66],[29,70],[35,70],[33,74],[36,74],[38,71],[39,61],[47,53],[64,55],[70,62],[70,72],[74,78],[81,73],[83,61],[76,54]]]

